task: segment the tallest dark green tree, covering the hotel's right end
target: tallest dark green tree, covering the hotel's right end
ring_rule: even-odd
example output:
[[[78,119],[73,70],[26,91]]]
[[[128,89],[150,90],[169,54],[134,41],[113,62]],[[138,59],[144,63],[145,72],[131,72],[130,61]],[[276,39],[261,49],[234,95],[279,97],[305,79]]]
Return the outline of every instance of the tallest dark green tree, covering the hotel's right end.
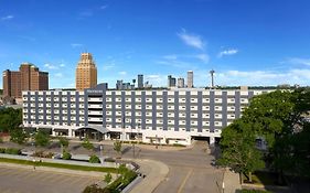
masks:
[[[268,143],[268,160],[282,183],[284,171],[290,168],[290,136],[295,122],[296,98],[298,94],[276,90],[254,97],[240,118],[253,128],[257,136]]]

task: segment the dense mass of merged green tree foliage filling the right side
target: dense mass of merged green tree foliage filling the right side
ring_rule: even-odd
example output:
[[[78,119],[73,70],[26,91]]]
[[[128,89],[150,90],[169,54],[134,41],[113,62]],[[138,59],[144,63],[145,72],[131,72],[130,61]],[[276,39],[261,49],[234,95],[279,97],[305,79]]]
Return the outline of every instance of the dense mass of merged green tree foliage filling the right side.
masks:
[[[264,161],[279,176],[284,172],[309,175],[309,89],[276,90],[252,98],[242,118],[223,130],[218,163],[239,173],[261,168],[255,140],[263,138],[268,144]]]

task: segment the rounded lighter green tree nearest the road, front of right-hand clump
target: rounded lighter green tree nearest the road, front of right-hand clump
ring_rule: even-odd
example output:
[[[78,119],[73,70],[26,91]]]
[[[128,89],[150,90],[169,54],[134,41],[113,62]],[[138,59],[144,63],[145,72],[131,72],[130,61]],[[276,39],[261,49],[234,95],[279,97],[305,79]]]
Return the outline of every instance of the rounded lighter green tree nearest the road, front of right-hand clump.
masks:
[[[261,153],[255,147],[255,133],[248,124],[240,120],[226,127],[220,142],[222,154],[217,163],[229,167],[252,182],[252,173],[265,167]]]

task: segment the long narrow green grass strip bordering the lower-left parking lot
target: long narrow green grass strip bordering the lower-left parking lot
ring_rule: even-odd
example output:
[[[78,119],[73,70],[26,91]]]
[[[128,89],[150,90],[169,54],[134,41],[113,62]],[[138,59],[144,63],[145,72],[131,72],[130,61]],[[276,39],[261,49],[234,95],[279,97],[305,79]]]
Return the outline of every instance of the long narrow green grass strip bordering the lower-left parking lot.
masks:
[[[117,169],[115,169],[115,168],[84,167],[84,165],[64,164],[64,163],[50,163],[50,162],[32,162],[32,161],[28,161],[28,160],[18,160],[18,159],[8,159],[8,158],[0,158],[0,162],[25,164],[25,165],[35,164],[35,167],[51,167],[51,168],[79,170],[79,171],[96,171],[96,172],[117,173]]]

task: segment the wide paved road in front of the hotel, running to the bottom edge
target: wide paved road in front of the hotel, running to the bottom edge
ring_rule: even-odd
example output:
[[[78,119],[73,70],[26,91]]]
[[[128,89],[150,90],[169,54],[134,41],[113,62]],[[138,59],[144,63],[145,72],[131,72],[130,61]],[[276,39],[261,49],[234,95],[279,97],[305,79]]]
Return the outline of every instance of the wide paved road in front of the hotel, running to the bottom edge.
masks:
[[[104,143],[104,156],[117,156],[114,151],[111,141],[106,141]],[[96,144],[96,153],[100,154],[98,144]],[[132,159],[132,146],[124,144],[124,149],[122,157]],[[143,146],[139,147],[139,144],[136,144],[135,158],[158,160],[169,167],[168,176],[165,181],[161,182],[154,190],[156,193],[218,193],[220,189],[217,184],[220,184],[220,186],[222,184],[223,172],[211,165],[214,158],[209,154],[206,149],[207,144],[205,141],[196,141],[192,149],[172,151],[158,150],[156,147],[151,146],[146,149]],[[49,151],[60,152],[61,149],[54,147],[49,149]],[[70,151],[72,153],[90,153],[76,142],[71,142]],[[78,190],[82,190],[83,183],[77,184],[77,186],[78,185],[81,187]]]

